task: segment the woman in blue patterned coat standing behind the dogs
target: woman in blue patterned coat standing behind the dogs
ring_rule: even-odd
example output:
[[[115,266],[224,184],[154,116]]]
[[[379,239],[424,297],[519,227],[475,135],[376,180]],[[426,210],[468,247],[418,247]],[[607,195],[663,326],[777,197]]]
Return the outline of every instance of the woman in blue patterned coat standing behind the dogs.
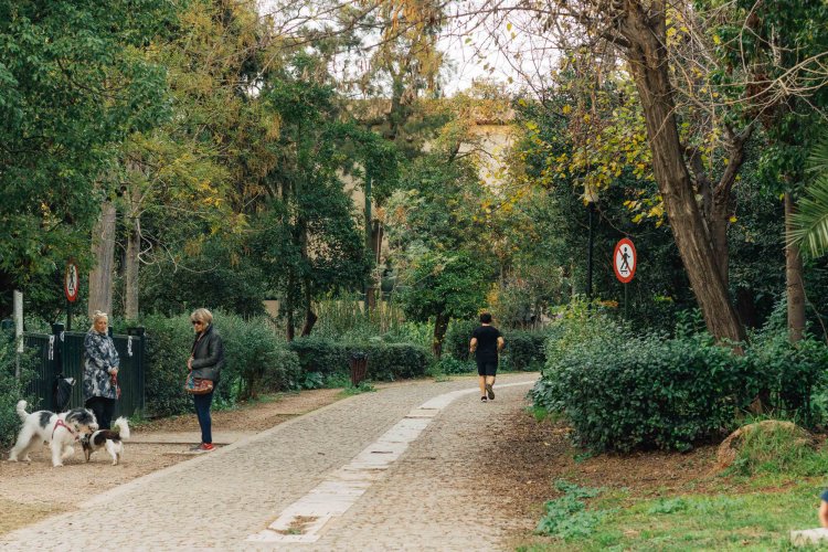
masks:
[[[118,351],[107,332],[109,318],[106,312],[96,310],[92,317],[92,328],[86,332],[84,350],[84,400],[98,421],[102,429],[109,429],[118,399]]]

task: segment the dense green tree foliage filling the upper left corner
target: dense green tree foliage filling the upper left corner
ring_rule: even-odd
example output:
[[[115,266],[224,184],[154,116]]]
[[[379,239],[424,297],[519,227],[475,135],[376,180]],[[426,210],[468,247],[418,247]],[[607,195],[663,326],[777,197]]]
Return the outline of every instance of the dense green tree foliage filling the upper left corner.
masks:
[[[169,116],[164,70],[136,50],[173,18],[166,0],[0,1],[0,310],[40,300],[70,256],[82,269],[115,149]]]

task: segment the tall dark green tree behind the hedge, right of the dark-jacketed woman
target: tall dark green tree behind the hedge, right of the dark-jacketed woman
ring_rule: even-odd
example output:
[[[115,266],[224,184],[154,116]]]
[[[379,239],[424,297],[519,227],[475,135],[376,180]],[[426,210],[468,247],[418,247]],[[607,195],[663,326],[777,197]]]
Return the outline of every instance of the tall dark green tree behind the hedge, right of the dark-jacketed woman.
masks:
[[[252,253],[293,326],[294,315],[311,301],[361,287],[370,259],[339,176],[349,166],[342,141],[357,129],[342,123],[331,87],[282,76],[263,94],[280,124],[277,162],[264,182],[269,201],[255,221]]]

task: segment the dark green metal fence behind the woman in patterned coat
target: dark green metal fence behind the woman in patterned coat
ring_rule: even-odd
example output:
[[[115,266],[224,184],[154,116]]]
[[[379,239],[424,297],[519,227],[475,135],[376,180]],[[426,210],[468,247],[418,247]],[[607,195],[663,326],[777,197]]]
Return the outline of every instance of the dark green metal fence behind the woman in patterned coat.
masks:
[[[28,391],[40,399],[40,407],[54,410],[55,378],[74,378],[70,407],[83,406],[83,354],[86,333],[63,331],[55,325],[52,335],[23,333],[26,349],[34,350],[36,375]],[[146,336],[144,328],[129,328],[126,336],[112,337],[120,358],[118,384],[120,399],[115,403],[115,416],[131,416],[145,407]]]

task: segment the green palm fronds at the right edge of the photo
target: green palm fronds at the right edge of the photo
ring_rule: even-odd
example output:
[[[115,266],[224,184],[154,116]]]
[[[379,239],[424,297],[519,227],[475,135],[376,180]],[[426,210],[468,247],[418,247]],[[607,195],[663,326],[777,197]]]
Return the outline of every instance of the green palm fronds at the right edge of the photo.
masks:
[[[828,251],[828,134],[811,152],[809,166],[815,179],[805,187],[788,240],[818,257]]]

